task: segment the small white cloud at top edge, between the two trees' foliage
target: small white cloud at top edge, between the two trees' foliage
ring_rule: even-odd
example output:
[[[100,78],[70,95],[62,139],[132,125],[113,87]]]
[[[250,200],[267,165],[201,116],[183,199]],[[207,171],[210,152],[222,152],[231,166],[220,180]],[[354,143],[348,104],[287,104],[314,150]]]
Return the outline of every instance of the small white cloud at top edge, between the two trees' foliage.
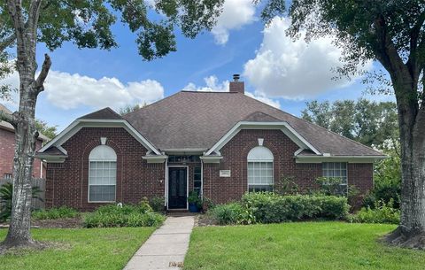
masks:
[[[255,5],[252,0],[225,0],[223,12],[221,12],[217,24],[212,30],[215,42],[221,45],[226,44],[229,31],[253,22],[255,20],[254,14]]]

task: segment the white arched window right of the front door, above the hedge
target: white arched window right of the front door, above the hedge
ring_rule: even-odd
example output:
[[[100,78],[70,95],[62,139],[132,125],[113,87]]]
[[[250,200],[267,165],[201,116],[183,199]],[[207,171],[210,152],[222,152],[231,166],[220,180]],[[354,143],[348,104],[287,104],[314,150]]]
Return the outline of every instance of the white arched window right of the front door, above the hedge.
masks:
[[[248,153],[248,191],[273,190],[273,153],[257,146]]]

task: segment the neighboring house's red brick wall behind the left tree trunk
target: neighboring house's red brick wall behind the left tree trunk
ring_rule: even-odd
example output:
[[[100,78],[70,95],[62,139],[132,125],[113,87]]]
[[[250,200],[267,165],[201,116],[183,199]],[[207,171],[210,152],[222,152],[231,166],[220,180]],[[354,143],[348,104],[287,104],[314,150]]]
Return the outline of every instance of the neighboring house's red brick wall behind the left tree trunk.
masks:
[[[42,148],[42,142],[37,141],[35,144],[35,150],[39,150],[40,148]],[[12,174],[14,154],[15,133],[12,131],[0,129],[0,178],[3,178],[4,174]],[[40,159],[35,159],[33,167],[33,177],[45,177],[45,168],[43,167],[41,175],[40,166],[42,166],[42,161]]]

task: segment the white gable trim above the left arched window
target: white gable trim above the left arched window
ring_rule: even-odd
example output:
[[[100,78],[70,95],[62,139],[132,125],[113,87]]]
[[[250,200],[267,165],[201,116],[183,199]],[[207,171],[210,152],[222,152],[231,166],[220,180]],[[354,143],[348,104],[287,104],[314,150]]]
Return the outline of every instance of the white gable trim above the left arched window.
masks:
[[[64,154],[66,154],[66,150],[61,147],[62,144],[66,143],[66,141],[69,140],[78,131],[80,131],[82,127],[123,127],[139,143],[142,143],[147,150],[151,150],[155,154],[161,155],[159,150],[157,150],[151,142],[149,142],[146,138],[143,137],[143,135],[141,135],[137,130],[135,130],[135,127],[131,126],[127,120],[74,120],[71,125],[66,127],[53,140],[44,145],[42,149],[39,150],[39,152],[48,150],[51,146],[56,146],[59,150],[64,151]]]

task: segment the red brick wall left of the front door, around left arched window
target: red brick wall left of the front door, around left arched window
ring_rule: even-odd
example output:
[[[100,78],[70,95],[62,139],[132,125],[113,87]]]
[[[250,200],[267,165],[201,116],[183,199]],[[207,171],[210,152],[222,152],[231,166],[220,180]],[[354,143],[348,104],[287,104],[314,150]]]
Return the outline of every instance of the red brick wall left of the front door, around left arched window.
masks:
[[[136,204],[143,197],[162,197],[165,165],[143,160],[146,149],[120,127],[83,127],[62,146],[68,152],[63,164],[49,164],[46,206],[68,205],[82,211],[96,208],[88,202],[89,153],[100,145],[100,137],[117,154],[116,202]]]

